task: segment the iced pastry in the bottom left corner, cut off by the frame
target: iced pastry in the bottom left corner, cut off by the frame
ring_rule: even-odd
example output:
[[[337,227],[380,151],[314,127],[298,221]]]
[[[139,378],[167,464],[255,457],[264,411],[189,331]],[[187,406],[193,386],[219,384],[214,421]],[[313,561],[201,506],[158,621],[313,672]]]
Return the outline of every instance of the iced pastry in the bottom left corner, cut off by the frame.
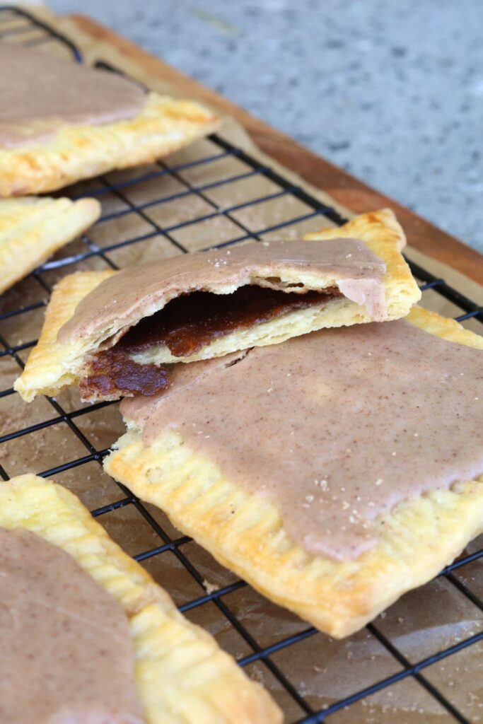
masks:
[[[0,542],[2,721],[282,722],[64,487],[2,482]]]

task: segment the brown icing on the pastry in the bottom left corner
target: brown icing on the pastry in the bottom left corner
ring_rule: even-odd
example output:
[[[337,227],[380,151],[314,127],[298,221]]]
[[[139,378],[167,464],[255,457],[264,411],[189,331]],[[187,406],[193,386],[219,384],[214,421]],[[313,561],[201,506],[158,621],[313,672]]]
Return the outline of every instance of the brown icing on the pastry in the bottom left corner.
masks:
[[[0,528],[2,724],[141,724],[117,601],[62,549]]]

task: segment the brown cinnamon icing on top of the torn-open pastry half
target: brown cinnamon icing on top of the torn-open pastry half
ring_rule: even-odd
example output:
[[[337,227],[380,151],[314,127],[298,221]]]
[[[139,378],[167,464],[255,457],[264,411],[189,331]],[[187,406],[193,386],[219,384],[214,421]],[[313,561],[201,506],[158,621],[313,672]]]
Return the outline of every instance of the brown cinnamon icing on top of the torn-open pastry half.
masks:
[[[385,312],[385,264],[357,239],[264,241],[182,254],[125,269],[80,301],[57,340],[119,334],[172,299],[190,292],[230,294],[244,285],[303,294],[336,285],[374,319]],[[119,337],[118,334],[118,337]]]

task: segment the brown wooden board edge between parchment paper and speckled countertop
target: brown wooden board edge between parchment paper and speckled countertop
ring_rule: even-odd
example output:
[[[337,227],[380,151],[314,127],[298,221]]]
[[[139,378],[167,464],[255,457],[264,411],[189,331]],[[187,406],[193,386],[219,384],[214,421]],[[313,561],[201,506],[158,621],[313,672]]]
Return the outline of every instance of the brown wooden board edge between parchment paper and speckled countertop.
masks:
[[[150,75],[175,83],[180,94],[205,101],[221,113],[238,120],[264,153],[321,188],[348,209],[362,213],[390,206],[403,224],[411,246],[427,256],[453,266],[474,281],[483,283],[483,257],[476,250],[91,18],[75,14],[70,16],[70,20],[83,33],[91,35],[96,41],[109,43]]]

